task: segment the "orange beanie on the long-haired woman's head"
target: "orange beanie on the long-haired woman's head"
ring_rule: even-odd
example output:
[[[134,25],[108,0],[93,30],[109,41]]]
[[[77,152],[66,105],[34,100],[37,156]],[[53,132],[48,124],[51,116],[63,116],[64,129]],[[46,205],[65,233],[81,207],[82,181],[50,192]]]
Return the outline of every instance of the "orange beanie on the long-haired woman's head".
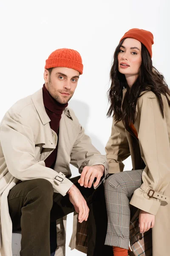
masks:
[[[144,44],[150,54],[150,57],[152,58],[152,45],[154,44],[154,42],[153,34],[150,31],[143,29],[130,29],[125,33],[120,41],[122,41],[124,38],[134,38]]]

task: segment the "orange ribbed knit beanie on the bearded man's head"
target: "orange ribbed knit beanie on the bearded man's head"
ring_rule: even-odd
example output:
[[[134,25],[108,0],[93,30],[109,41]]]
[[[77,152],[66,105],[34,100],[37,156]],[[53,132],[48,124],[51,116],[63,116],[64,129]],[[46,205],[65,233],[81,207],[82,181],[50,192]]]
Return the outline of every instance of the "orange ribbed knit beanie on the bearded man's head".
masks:
[[[82,75],[83,64],[79,52],[72,49],[57,49],[50,54],[46,60],[45,68],[68,67],[79,71]]]

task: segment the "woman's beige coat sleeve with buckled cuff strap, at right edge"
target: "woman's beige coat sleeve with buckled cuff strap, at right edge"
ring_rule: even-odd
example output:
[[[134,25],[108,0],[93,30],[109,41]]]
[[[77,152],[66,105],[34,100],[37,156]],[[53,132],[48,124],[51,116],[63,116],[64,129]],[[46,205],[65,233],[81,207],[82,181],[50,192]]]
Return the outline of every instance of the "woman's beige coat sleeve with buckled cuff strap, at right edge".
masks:
[[[139,106],[138,138],[146,167],[142,173],[143,184],[135,190],[130,204],[156,215],[161,200],[167,201],[163,193],[170,183],[170,143],[167,123],[161,115],[159,102],[154,93],[149,92],[141,97]]]

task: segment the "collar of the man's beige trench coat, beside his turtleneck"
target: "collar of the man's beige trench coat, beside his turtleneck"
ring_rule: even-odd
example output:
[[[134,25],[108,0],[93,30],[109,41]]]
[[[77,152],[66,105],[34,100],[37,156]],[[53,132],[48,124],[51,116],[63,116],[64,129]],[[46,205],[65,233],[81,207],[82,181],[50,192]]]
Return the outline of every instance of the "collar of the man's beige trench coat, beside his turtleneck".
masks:
[[[43,103],[42,88],[40,90],[38,90],[36,93],[32,94],[31,99],[33,101],[33,104],[34,104],[39,116],[40,116],[42,124],[45,125],[48,122],[50,122],[51,120],[45,111],[45,107],[44,107],[44,103]],[[68,118],[73,120],[68,108],[65,108],[64,114],[66,116],[68,116]]]

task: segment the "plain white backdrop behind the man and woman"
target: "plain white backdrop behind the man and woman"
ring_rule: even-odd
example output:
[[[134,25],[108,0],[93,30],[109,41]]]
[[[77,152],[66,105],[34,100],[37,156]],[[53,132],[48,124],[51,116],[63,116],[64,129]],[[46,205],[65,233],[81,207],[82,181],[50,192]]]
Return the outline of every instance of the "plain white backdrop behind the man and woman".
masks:
[[[45,59],[52,51],[76,49],[84,73],[69,105],[105,154],[111,133],[106,92],[113,52],[128,29],[150,30],[153,64],[170,84],[169,10],[169,0],[0,0],[0,119],[14,102],[42,87]],[[68,218],[66,255],[84,255],[68,248],[72,215]]]

